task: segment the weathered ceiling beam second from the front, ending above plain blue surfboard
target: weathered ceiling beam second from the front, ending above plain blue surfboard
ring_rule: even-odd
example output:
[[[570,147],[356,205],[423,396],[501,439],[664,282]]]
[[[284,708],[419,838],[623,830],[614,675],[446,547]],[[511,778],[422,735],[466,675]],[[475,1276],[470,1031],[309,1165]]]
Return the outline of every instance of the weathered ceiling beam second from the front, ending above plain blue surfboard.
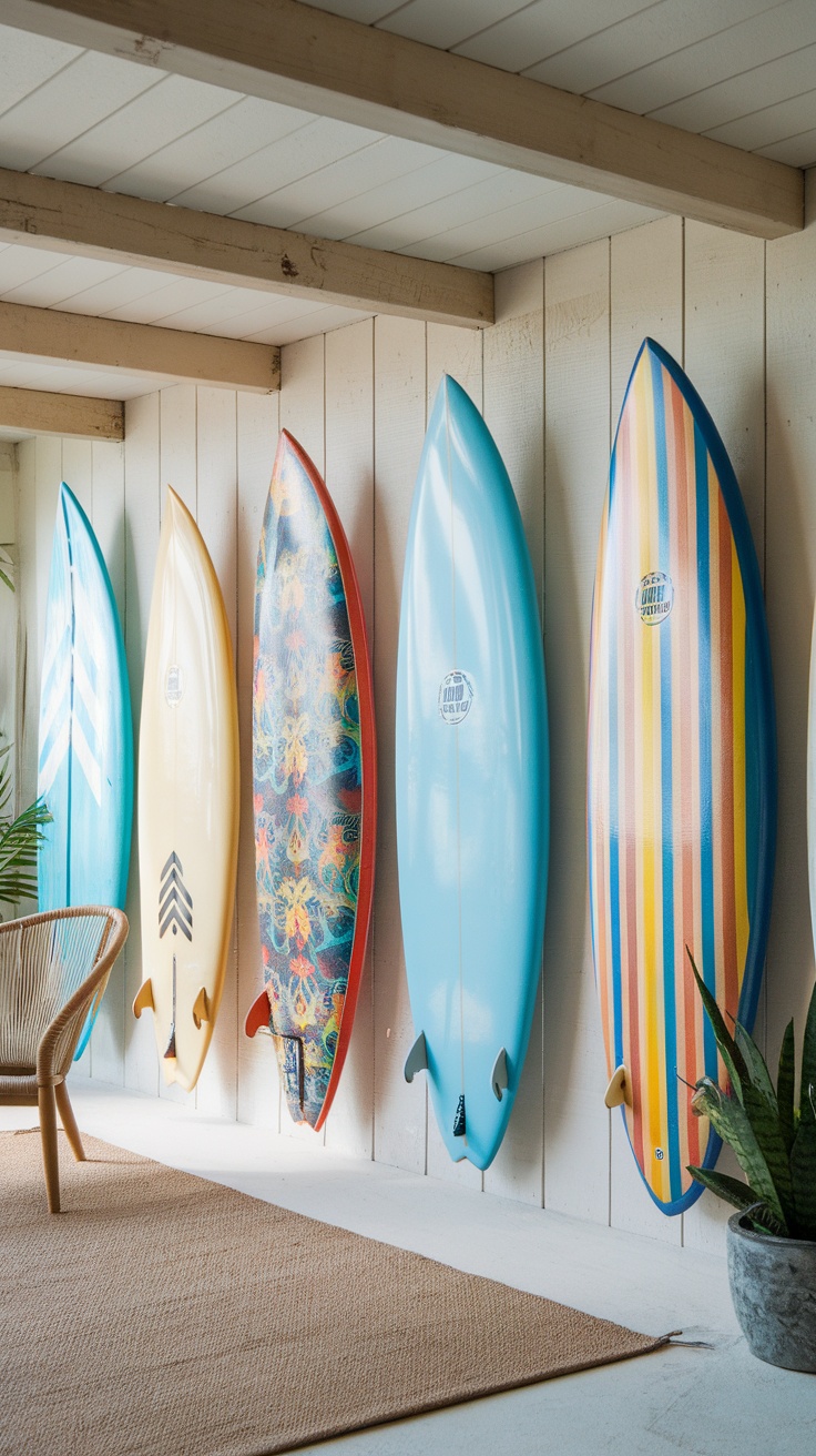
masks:
[[[0,236],[436,323],[493,322],[493,278],[284,227],[0,169]]]

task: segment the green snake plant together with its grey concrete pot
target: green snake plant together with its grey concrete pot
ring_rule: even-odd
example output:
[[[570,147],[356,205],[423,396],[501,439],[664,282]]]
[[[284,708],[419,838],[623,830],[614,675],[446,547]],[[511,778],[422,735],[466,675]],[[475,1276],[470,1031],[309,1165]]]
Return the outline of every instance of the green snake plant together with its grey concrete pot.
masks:
[[[717,1040],[727,1085],[703,1077],[691,1107],[727,1143],[746,1182],[691,1168],[698,1182],[737,1211],[729,1219],[729,1281],[749,1348],[769,1364],[816,1372],[816,986],[801,1051],[799,1105],[793,1021],[785,1026],[774,1086],[745,1026],[733,1035],[688,958]]]

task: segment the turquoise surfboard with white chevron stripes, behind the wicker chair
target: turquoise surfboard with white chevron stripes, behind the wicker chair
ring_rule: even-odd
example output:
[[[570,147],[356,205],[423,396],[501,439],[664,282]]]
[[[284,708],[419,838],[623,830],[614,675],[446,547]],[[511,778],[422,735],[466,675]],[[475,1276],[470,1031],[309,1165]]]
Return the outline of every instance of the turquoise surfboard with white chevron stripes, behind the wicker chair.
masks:
[[[134,802],[125,644],[99,542],[65,482],[45,603],[36,792],[52,814],[38,853],[39,910],[124,910]],[[97,1010],[87,1018],[76,1057]]]

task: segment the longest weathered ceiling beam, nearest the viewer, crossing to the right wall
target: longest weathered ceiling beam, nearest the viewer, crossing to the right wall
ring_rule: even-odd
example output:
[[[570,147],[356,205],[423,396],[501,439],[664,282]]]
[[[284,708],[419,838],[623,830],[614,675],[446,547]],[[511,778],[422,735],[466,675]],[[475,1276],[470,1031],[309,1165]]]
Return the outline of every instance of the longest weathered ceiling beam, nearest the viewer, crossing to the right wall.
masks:
[[[300,0],[3,0],[3,20],[759,237],[803,227],[797,167]]]

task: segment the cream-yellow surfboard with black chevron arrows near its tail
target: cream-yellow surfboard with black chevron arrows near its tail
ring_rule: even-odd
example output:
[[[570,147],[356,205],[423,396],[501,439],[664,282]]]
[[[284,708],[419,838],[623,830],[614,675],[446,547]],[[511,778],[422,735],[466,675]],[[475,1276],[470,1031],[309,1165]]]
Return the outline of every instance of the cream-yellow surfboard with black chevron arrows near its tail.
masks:
[[[230,626],[198,526],[167,489],[144,662],[138,866],[145,980],[167,1083],[191,1092],[224,989],[239,853]]]

